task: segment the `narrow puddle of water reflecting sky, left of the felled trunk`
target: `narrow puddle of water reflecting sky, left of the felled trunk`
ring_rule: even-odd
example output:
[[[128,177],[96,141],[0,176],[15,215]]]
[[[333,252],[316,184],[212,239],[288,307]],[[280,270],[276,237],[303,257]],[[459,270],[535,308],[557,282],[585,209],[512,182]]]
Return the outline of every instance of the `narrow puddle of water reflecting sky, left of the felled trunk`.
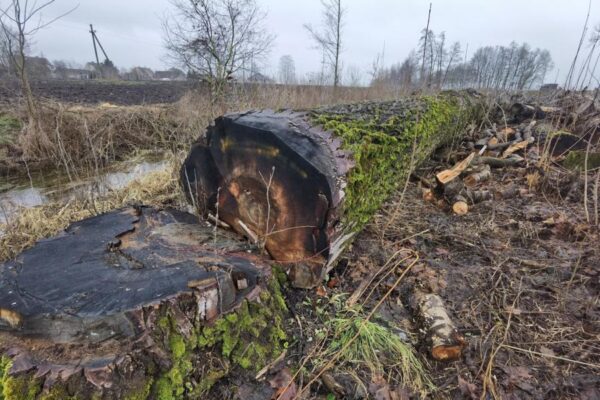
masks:
[[[120,171],[104,172],[96,178],[70,182],[55,183],[48,186],[31,186],[29,182],[20,182],[15,188],[0,193],[0,223],[6,223],[10,217],[22,207],[31,208],[50,201],[67,202],[72,198],[84,198],[91,193],[105,195],[111,190],[126,187],[133,180],[155,171],[168,168],[168,162],[142,161],[136,164],[125,164]],[[41,180],[43,182],[43,179]],[[1,232],[0,232],[1,234]]]

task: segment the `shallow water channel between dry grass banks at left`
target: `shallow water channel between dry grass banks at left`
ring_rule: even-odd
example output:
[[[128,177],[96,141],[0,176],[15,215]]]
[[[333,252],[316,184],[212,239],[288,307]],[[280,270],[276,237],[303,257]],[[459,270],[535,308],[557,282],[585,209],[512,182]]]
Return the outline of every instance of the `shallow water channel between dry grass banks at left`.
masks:
[[[96,176],[69,181],[64,176],[38,173],[4,180],[0,190],[0,223],[10,221],[21,208],[31,208],[48,202],[67,202],[72,198],[85,198],[91,194],[102,196],[111,190],[122,189],[135,179],[151,172],[168,168],[162,157],[146,157],[125,161],[106,168]]]

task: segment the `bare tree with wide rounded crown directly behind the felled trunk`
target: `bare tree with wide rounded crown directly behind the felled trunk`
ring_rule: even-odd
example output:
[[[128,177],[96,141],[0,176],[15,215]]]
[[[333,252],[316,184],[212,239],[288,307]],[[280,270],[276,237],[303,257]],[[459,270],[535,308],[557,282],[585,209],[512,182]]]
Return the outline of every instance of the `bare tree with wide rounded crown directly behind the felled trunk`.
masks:
[[[171,58],[209,83],[221,100],[227,82],[270,50],[273,36],[255,0],[171,0],[174,14],[163,21]]]

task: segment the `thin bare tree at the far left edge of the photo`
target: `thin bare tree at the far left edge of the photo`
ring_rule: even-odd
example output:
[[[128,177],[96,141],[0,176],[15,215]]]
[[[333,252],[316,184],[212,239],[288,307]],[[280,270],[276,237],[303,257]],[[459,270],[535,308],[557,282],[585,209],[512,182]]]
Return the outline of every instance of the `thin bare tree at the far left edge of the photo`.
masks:
[[[29,117],[29,127],[41,130],[37,107],[29,76],[27,73],[27,55],[26,51],[31,38],[42,28],[50,25],[54,21],[62,18],[75,8],[59,15],[49,21],[42,22],[41,13],[54,3],[55,0],[46,0],[42,3],[37,1],[29,2],[27,0],[10,0],[8,5],[0,9],[0,31],[5,40],[9,43],[9,56],[15,72],[21,83],[21,91],[27,104],[27,114]],[[14,46],[14,48],[12,47]]]

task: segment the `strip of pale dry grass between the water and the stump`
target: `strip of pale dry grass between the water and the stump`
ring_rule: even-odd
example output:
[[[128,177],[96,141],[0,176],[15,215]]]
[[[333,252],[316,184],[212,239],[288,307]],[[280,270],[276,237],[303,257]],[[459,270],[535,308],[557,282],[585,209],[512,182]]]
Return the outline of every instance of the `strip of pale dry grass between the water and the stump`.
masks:
[[[0,261],[14,258],[38,240],[55,235],[74,221],[131,204],[158,207],[184,204],[178,184],[180,162],[175,156],[169,162],[169,168],[149,173],[102,197],[90,195],[72,199],[66,204],[53,202],[19,210],[8,223],[0,224],[3,232],[0,236]]]

